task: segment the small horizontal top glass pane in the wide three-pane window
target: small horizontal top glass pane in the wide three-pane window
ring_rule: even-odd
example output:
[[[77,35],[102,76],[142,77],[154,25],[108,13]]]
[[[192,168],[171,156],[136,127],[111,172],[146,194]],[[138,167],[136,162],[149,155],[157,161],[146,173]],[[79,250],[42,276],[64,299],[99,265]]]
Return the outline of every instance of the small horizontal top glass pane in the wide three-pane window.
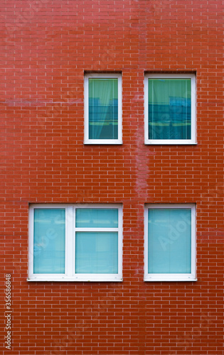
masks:
[[[118,209],[76,209],[75,226],[87,228],[117,228]]]

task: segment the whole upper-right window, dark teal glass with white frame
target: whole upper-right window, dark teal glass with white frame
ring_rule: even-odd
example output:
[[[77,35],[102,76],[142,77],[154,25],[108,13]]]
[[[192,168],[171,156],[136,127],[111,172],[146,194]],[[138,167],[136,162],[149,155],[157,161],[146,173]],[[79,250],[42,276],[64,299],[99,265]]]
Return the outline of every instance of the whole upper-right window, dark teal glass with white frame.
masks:
[[[145,143],[196,143],[195,75],[146,75]]]

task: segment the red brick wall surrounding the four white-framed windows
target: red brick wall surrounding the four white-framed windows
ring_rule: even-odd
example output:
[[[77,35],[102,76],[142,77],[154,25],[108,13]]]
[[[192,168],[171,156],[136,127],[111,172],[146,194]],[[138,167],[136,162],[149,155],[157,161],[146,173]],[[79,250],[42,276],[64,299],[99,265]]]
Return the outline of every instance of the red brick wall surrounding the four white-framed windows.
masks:
[[[1,354],[224,354],[223,1],[0,6],[1,288],[10,273],[13,309]],[[122,72],[122,146],[83,145],[85,71]],[[150,71],[196,72],[196,146],[144,145]],[[122,203],[123,282],[28,283],[39,202]],[[197,282],[144,282],[151,202],[197,204]]]

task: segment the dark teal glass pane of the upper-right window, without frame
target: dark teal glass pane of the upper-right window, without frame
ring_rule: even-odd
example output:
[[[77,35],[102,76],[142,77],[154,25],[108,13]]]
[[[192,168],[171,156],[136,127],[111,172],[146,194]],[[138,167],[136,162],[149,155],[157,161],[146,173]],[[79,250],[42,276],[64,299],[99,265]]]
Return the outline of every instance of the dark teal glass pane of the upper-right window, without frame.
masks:
[[[149,79],[149,139],[191,139],[191,79]]]

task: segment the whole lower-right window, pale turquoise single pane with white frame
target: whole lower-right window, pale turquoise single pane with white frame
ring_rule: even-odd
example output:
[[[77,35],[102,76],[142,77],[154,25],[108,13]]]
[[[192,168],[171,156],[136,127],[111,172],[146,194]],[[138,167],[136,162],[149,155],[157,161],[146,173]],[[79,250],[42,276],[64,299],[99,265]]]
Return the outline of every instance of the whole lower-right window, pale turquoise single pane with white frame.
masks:
[[[196,280],[194,204],[146,205],[144,280]]]

